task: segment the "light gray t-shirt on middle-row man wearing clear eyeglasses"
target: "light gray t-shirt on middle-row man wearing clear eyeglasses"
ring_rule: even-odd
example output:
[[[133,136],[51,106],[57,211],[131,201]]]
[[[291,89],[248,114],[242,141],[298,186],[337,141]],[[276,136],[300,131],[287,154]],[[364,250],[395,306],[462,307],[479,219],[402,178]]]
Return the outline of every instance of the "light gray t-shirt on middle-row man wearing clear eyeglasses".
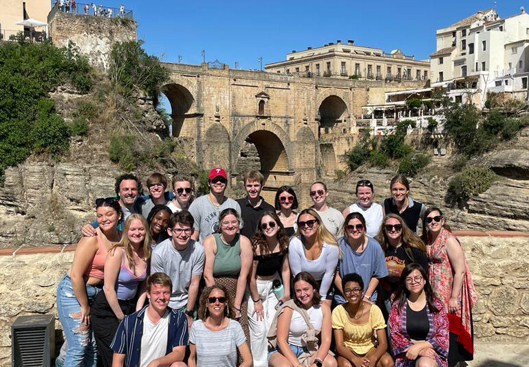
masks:
[[[204,258],[204,247],[193,240],[189,240],[187,247],[182,251],[173,247],[171,238],[154,247],[151,274],[161,271],[171,278],[173,282],[171,300],[169,300],[171,309],[186,307],[191,276],[202,274]]]

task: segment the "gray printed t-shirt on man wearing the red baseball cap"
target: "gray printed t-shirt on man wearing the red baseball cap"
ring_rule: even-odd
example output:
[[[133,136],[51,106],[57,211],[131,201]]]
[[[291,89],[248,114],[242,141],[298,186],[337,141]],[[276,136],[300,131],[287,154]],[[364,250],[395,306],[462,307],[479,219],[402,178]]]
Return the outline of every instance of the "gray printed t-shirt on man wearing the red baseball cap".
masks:
[[[200,242],[203,242],[208,234],[217,232],[219,229],[219,213],[226,208],[235,209],[241,215],[239,203],[229,197],[218,208],[211,203],[207,194],[202,195],[202,197],[197,198],[191,203],[189,212],[191,212],[193,219],[195,219],[195,229],[200,231]]]

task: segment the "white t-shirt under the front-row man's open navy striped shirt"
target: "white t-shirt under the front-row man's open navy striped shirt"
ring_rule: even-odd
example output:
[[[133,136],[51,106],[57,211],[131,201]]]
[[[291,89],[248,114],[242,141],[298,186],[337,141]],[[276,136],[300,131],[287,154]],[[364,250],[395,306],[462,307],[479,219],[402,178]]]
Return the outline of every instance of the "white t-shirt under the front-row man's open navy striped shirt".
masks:
[[[147,367],[153,359],[164,357],[167,348],[169,310],[158,322],[149,319],[147,311],[143,315],[143,335],[140,349],[140,367]]]

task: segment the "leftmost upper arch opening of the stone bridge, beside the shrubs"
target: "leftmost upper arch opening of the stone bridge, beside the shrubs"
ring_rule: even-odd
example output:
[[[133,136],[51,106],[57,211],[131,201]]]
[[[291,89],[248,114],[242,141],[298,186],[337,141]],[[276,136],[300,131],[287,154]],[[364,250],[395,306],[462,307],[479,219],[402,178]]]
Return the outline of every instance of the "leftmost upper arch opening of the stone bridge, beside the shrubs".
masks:
[[[183,85],[170,83],[164,85],[162,93],[165,94],[169,103],[171,103],[171,118],[173,118],[173,136],[179,137],[195,136],[194,120],[196,109],[195,98],[191,91]]]

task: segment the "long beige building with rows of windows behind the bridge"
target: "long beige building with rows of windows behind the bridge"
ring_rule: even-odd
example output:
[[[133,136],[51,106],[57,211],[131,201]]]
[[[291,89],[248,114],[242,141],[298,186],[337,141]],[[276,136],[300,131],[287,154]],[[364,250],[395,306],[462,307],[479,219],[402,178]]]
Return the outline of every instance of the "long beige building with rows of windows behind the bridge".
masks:
[[[400,49],[386,54],[382,49],[354,45],[354,41],[328,43],[287,54],[286,60],[265,65],[266,71],[297,76],[329,76],[373,80],[427,80],[428,60],[415,60]]]

